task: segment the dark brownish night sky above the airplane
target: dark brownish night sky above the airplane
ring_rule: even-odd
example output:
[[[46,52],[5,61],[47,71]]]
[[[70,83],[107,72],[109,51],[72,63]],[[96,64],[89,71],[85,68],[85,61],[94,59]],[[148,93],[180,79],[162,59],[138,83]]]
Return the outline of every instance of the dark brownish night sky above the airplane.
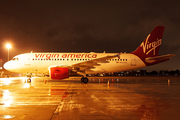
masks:
[[[0,2],[0,58],[26,52],[132,52],[164,25],[160,54],[176,54],[148,70],[180,69],[179,1],[4,0]]]

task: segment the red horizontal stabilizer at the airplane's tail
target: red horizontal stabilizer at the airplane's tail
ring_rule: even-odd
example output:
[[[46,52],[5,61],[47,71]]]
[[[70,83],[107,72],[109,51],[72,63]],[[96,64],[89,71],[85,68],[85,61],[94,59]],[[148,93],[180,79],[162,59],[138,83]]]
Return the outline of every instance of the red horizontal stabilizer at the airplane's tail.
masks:
[[[169,60],[170,57],[175,56],[174,54],[167,54],[167,55],[161,55],[161,56],[156,56],[156,57],[148,57],[145,59],[146,62],[152,63],[155,61],[166,61]]]

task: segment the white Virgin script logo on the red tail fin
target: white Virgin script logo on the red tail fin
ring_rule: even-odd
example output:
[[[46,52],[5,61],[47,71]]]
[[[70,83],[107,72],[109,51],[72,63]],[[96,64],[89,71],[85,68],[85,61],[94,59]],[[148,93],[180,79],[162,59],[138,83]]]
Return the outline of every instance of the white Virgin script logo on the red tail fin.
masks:
[[[142,42],[140,47],[143,48],[143,53],[146,53],[148,55],[151,51],[153,51],[153,55],[156,53],[156,48],[161,45],[162,39],[157,38],[156,41],[149,42],[150,34],[147,36],[145,42]]]

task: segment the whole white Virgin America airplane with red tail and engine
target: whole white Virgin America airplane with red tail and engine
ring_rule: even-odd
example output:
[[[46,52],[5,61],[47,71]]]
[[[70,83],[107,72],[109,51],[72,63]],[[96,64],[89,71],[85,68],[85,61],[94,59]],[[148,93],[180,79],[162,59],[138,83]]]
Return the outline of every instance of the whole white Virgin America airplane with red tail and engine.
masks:
[[[4,64],[8,71],[48,74],[52,80],[68,78],[76,73],[87,83],[87,74],[112,73],[142,68],[161,63],[175,56],[158,55],[164,26],[156,26],[140,46],[131,53],[24,53]]]

